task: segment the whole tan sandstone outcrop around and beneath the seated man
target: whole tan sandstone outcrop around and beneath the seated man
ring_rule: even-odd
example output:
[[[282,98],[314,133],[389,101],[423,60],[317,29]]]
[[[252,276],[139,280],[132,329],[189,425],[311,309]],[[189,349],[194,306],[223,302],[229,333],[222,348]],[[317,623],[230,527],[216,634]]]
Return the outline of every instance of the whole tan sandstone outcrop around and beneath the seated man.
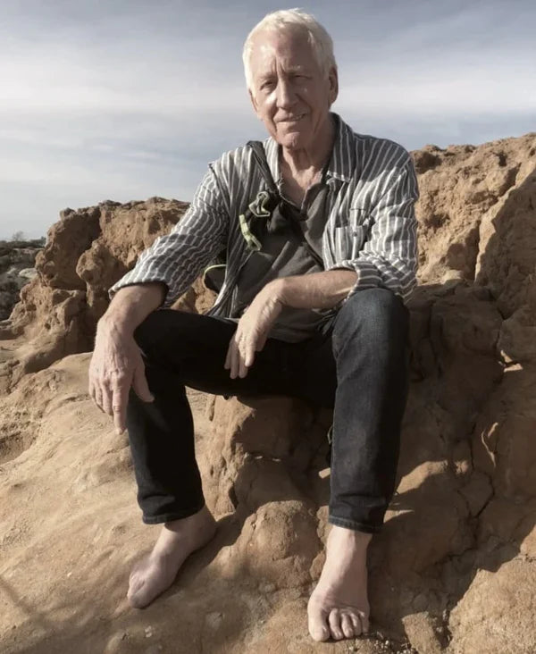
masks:
[[[381,636],[356,650],[529,654],[536,650],[536,135],[425,147],[414,156],[421,258],[409,303],[412,384],[398,489],[370,555],[373,628]],[[48,632],[44,618],[32,635],[22,609],[7,615],[18,616],[18,642],[34,652],[80,650],[88,633],[107,652],[149,645],[347,651],[347,643],[313,648],[304,622],[327,531],[331,415],[289,398],[190,395],[205,496],[220,535],[142,618],[117,608],[125,559],[154,535],[135,525],[126,443],[88,400],[88,356],[58,359],[90,348],[105,289],[184,206],[153,199],[64,213],[38,257],[38,278],[4,326],[12,338],[0,350],[0,380],[12,392],[1,400],[0,506],[16,505],[25,486],[35,502],[30,516],[0,511],[5,583],[15,597],[13,589],[32,585],[29,570],[52,589],[51,560],[76,575],[74,588],[63,576],[55,586],[62,597],[71,593],[68,608],[24,591],[26,606],[39,606],[49,621]],[[211,299],[196,286],[181,306],[203,310]],[[71,491],[47,508],[39,493],[58,470]],[[96,545],[78,553],[60,545],[51,554],[33,526],[38,520],[45,532]],[[89,617],[95,597],[106,628]],[[180,625],[170,615],[180,615]],[[13,625],[4,626],[8,633]],[[6,651],[22,651],[15,632]]]

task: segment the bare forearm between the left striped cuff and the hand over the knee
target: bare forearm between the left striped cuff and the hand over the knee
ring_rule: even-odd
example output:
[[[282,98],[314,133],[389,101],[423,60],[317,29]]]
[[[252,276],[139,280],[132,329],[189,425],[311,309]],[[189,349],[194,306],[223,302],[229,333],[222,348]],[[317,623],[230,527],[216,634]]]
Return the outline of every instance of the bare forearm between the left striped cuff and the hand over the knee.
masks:
[[[106,313],[99,321],[99,327],[134,333],[147,315],[162,305],[165,285],[160,282],[134,284],[119,289],[113,296]]]

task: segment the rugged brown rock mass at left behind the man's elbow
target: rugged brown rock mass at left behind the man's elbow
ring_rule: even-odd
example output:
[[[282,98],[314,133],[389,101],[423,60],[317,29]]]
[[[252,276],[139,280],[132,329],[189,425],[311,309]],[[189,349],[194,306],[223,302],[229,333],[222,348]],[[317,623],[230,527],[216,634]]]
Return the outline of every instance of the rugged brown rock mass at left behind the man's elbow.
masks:
[[[108,306],[107,289],[158,235],[172,229],[187,206],[153,197],[65,209],[38,253],[37,276],[21,289],[9,320],[0,323],[0,340],[22,337],[9,370],[4,366],[4,387],[63,356],[90,350],[96,323]],[[195,304],[192,291],[179,306],[191,301]]]

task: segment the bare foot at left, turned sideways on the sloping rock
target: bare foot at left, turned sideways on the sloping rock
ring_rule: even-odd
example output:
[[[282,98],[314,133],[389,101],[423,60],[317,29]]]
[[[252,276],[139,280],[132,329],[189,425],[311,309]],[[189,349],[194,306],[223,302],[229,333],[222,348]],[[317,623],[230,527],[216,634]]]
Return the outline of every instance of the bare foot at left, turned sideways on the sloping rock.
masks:
[[[185,558],[202,548],[215,532],[216,522],[207,507],[194,516],[163,524],[153,551],[130,573],[130,604],[134,608],[147,607],[172,585]]]

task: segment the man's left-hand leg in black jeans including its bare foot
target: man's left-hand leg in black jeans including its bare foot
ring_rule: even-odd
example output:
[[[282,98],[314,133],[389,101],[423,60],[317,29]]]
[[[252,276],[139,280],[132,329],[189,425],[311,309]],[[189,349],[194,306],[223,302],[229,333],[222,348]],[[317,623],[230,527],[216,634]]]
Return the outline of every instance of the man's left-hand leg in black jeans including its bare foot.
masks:
[[[151,554],[130,575],[129,599],[147,606],[168,588],[185,558],[215,532],[205,507],[194,448],[194,426],[185,384],[216,394],[284,392],[292,387],[286,343],[268,340],[243,380],[223,368],[236,326],[204,315],[157,311],[135,338],[144,352],[152,403],[130,393],[127,424],[147,524],[163,523]]]

